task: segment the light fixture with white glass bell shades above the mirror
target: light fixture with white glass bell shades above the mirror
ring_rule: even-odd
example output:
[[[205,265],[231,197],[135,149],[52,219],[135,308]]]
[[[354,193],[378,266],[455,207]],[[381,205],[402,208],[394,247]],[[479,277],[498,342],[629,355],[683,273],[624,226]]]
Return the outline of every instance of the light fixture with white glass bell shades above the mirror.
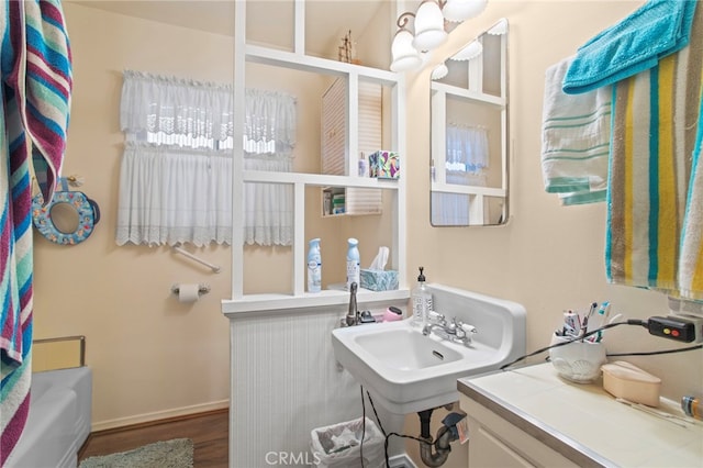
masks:
[[[473,18],[486,8],[488,0],[423,0],[415,13],[406,11],[398,16],[398,32],[391,45],[391,71],[417,69],[423,54],[444,44],[447,24]],[[414,34],[408,29],[414,18]]]

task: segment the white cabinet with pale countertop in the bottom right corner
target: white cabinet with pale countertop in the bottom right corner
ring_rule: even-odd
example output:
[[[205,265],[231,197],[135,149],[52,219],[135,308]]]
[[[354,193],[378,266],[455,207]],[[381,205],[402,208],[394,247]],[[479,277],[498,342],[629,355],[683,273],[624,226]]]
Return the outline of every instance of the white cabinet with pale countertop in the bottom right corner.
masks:
[[[693,467],[703,425],[660,399],[671,420],[618,403],[601,381],[573,383],[551,364],[459,379],[469,467]]]

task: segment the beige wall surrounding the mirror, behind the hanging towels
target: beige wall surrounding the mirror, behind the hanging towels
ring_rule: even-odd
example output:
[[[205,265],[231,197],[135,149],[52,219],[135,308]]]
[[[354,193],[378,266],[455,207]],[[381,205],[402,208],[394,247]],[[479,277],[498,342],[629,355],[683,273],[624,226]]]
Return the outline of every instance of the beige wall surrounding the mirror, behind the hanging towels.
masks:
[[[584,310],[592,301],[610,300],[616,312],[645,319],[666,314],[665,297],[610,286],[604,269],[605,204],[561,207],[544,191],[540,171],[540,119],[545,69],[573,54],[595,33],[634,11],[640,1],[493,1],[478,19],[451,34],[435,60],[490,27],[510,20],[511,220],[503,227],[432,229],[428,181],[422,170],[409,177],[409,265],[425,266],[429,281],[512,299],[527,309],[527,347],[548,344],[565,309]],[[432,67],[428,67],[429,69]],[[429,147],[424,129],[428,110],[413,105],[427,99],[428,70],[409,80],[409,158],[413,168],[426,165]],[[420,148],[420,149],[419,149]],[[422,246],[422,248],[421,248]],[[455,246],[455,247],[449,247]],[[609,352],[678,347],[650,337],[640,327],[606,334]],[[702,390],[703,353],[627,358],[663,379],[663,392],[679,398]],[[684,370],[685,369],[685,370]]]

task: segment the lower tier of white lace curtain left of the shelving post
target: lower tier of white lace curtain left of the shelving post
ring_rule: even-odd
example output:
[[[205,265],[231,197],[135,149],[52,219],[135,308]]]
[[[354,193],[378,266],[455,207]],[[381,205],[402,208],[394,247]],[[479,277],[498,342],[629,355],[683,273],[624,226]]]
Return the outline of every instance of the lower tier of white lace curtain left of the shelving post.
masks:
[[[232,241],[232,156],[127,143],[120,174],[118,244]]]

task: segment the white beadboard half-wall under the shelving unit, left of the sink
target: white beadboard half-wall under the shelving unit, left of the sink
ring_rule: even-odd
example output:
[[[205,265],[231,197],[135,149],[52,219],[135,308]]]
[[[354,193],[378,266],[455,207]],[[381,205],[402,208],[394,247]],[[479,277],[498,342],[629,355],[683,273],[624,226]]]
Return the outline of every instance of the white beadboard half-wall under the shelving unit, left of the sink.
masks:
[[[345,313],[336,307],[231,317],[231,467],[267,466],[270,453],[297,457],[310,450],[313,428],[361,416],[360,386],[332,349],[332,330]],[[368,401],[366,410],[373,419]]]

